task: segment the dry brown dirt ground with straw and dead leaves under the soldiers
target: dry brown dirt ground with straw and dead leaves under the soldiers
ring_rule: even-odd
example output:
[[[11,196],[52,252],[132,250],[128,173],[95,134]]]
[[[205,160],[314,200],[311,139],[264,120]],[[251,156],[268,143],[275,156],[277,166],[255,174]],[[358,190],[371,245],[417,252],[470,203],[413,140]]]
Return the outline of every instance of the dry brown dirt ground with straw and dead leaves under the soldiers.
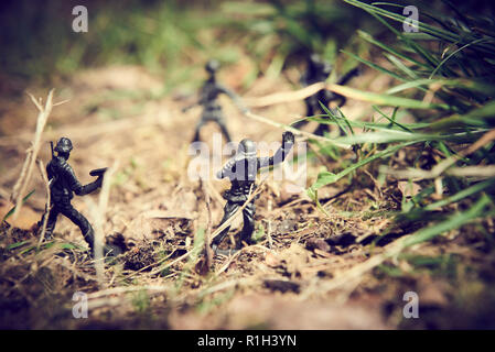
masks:
[[[235,73],[222,78],[238,88]],[[369,79],[375,79],[374,87],[387,84]],[[1,88],[3,218],[12,207],[8,199],[33,138],[36,110],[23,89]],[[161,82],[139,67],[93,69],[58,82],[55,101],[68,102],[54,107],[39,157],[47,163],[47,142],[68,136],[75,145],[69,163],[83,183],[90,182],[93,168],[115,167],[103,230],[126,253],[98,276],[78,229],[62,218],[54,242],[36,250],[37,238],[30,229],[41,218],[46,195],[35,170],[29,188],[35,194],[15,222],[1,227],[2,328],[494,327],[495,296],[486,288],[495,279],[493,243],[480,238],[475,226],[408,249],[407,255],[380,256],[417,227],[391,223],[387,212],[399,209],[406,195],[397,183],[379,186],[374,165],[321,190],[326,213],[297,187],[297,177],[268,179],[256,202],[260,241],[230,257],[216,256],[211,271],[202,272],[194,238],[208,228],[205,194],[215,230],[228,183],[212,179],[201,185],[187,177],[193,158],[187,142],[201,110],[182,113],[193,97],[180,91],[160,97],[160,89]],[[284,80],[259,79],[244,96],[292,89]],[[46,96],[45,89],[28,90]],[[282,130],[249,120],[227,99],[222,101],[235,141],[280,141]],[[370,110],[352,101],[345,109],[357,118]],[[293,101],[255,111],[290,123],[304,109]],[[211,125],[202,131],[211,150],[213,132],[217,130]],[[354,157],[352,151],[343,155]],[[322,163],[330,169],[337,165],[322,155],[309,158],[306,186]],[[407,165],[407,155],[399,153],[391,164]],[[95,209],[100,209],[98,197],[73,201],[92,223]],[[476,226],[493,233],[489,220]],[[230,245],[229,240],[224,245]],[[88,295],[87,319],[73,317],[76,292]],[[419,319],[403,318],[407,292],[420,298]]]

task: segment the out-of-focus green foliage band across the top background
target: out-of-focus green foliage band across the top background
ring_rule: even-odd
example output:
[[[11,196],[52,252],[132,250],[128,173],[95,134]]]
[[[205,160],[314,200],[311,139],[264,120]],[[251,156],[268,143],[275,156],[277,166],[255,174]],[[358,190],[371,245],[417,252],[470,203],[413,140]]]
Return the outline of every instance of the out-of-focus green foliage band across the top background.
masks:
[[[312,51],[334,61],[367,18],[329,0],[79,2],[3,2],[1,69],[46,82],[86,67],[138,64],[171,87],[197,79],[211,57],[230,64],[244,54],[254,63],[252,81]],[[77,4],[88,10],[87,33],[72,30]]]

